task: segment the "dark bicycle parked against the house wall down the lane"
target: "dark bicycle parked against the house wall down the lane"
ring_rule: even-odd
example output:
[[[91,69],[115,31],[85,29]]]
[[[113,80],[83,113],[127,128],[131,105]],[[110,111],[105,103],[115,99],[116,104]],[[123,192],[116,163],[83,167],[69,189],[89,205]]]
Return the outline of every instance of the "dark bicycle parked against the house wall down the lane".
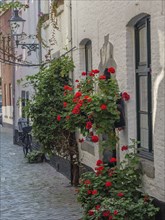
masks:
[[[24,156],[32,152],[32,135],[31,135],[32,126],[27,126],[22,128],[22,145]]]

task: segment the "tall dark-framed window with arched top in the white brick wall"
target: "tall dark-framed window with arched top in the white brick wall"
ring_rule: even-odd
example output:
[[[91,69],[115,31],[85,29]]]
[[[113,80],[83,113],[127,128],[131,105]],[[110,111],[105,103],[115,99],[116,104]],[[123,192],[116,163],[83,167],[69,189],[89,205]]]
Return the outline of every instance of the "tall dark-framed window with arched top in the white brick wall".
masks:
[[[142,156],[152,159],[150,17],[135,25],[137,139]]]

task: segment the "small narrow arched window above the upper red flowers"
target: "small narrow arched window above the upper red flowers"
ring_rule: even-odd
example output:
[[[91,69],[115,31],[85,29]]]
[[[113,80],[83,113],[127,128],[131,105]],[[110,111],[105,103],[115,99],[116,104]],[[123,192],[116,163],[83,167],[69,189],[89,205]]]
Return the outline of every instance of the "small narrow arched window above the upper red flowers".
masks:
[[[85,70],[89,73],[92,70],[92,43],[88,40],[85,44]]]

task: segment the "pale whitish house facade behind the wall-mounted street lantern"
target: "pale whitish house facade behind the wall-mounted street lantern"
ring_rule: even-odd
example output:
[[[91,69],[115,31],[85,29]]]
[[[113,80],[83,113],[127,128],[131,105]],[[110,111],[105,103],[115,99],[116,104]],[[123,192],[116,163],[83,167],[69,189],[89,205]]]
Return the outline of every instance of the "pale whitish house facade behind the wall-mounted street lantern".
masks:
[[[22,10],[20,16],[25,19],[24,24],[24,32],[27,35],[36,35],[36,27],[38,22],[38,14],[39,14],[39,1],[29,1],[29,8],[26,10]],[[22,42],[25,43],[38,43],[37,40],[25,39]],[[24,61],[28,61],[32,64],[39,64],[39,50],[32,51],[28,56],[28,49],[22,49],[21,46],[18,46],[17,54],[21,55]],[[32,95],[33,90],[31,87],[24,87],[23,84],[26,82],[25,77],[27,75],[33,75],[37,73],[39,70],[38,66],[15,66],[15,128],[17,128],[18,119],[22,117],[22,106],[21,106],[21,93],[25,91],[25,93],[29,92],[29,97]],[[21,83],[19,83],[19,80]],[[25,95],[26,98],[26,95]]]

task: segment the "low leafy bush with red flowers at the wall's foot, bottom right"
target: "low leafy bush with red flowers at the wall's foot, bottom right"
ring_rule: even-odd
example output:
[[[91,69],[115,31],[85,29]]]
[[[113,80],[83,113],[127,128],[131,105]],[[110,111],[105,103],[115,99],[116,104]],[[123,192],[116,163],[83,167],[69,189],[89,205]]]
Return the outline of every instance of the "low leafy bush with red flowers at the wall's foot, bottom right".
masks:
[[[98,160],[95,173],[82,175],[78,201],[84,209],[84,220],[146,220],[158,211],[152,199],[140,192],[142,176],[135,144],[123,147],[125,160],[119,166],[110,168]]]

